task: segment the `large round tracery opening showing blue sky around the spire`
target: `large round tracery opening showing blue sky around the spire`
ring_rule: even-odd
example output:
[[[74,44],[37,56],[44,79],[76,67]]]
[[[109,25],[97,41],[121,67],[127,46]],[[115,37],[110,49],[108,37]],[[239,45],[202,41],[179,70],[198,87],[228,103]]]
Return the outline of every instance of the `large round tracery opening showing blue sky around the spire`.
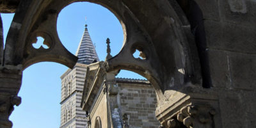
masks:
[[[84,27],[85,25],[87,27]],[[57,20],[58,36],[63,45],[73,54],[77,51],[77,45],[73,45],[73,42],[79,42],[83,39],[81,36],[85,28],[88,28],[99,60],[105,60],[107,56],[107,38],[110,38],[113,56],[122,49],[125,42],[124,26],[116,18],[116,15],[104,6],[89,2],[76,2],[65,6],[59,13]]]

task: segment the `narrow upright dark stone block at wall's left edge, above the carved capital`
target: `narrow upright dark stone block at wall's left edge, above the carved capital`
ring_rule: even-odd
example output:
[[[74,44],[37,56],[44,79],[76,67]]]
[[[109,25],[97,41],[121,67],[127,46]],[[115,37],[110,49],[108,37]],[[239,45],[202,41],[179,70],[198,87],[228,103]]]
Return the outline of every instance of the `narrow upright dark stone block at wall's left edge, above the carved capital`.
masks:
[[[217,88],[230,88],[230,72],[228,56],[225,51],[209,50],[209,66],[212,86]]]

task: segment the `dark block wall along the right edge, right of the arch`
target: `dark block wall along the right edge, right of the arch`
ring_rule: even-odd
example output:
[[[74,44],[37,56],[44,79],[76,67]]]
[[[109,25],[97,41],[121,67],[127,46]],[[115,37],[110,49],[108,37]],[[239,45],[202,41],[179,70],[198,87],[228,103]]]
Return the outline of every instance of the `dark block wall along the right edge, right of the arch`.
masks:
[[[196,2],[204,13],[212,90],[218,92],[222,127],[256,127],[256,1]]]

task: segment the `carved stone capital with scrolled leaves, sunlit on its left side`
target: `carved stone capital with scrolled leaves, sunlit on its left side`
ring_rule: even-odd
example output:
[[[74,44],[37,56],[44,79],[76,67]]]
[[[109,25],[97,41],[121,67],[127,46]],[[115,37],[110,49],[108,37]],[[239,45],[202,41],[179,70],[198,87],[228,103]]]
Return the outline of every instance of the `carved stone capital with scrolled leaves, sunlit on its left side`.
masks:
[[[156,116],[164,127],[221,127],[218,97],[212,90],[189,86],[182,91],[170,91],[164,105],[157,106]]]

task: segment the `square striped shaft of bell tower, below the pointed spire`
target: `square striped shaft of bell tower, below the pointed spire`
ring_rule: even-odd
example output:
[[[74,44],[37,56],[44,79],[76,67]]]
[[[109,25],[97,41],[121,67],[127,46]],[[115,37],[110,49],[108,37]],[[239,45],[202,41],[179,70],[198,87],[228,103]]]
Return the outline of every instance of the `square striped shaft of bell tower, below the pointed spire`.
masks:
[[[80,107],[87,65],[77,63],[61,76],[61,126],[60,128],[84,128],[86,112]]]

